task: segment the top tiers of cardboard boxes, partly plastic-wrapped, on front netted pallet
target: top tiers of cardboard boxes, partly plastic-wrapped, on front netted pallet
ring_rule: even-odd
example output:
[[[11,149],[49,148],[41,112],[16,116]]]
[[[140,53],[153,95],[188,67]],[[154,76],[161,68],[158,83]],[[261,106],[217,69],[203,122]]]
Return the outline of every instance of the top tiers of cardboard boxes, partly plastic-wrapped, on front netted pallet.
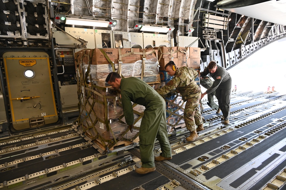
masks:
[[[157,72],[157,52],[157,50],[139,48],[92,49],[89,50],[88,61],[77,62],[83,63],[83,74],[85,75],[89,69],[89,74],[93,78],[92,82],[101,87],[108,86],[105,83],[105,79],[113,70],[119,72],[124,77],[141,77],[145,82],[155,83],[159,78]],[[88,64],[89,62],[90,64]],[[88,81],[90,82],[89,77]]]

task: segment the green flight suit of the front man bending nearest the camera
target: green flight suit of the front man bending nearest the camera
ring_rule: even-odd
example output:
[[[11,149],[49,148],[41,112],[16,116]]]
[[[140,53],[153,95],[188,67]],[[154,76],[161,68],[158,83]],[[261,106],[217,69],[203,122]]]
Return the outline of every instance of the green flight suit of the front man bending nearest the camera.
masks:
[[[145,106],[140,124],[139,145],[142,167],[155,167],[154,143],[157,137],[163,157],[171,157],[168,140],[165,100],[147,83],[136,77],[122,78],[121,102],[127,125],[134,123],[132,102]]]

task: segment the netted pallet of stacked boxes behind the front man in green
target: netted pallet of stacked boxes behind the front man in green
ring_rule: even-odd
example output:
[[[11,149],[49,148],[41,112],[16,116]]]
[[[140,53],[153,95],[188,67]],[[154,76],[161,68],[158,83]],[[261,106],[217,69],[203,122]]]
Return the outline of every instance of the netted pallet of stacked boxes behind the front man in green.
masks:
[[[80,100],[78,129],[92,139],[102,153],[116,145],[138,141],[145,107],[133,105],[135,127],[131,133],[125,124],[120,94],[105,79],[115,71],[123,77],[141,78],[154,89],[159,88],[157,50],[85,49],[77,52],[75,59]]]

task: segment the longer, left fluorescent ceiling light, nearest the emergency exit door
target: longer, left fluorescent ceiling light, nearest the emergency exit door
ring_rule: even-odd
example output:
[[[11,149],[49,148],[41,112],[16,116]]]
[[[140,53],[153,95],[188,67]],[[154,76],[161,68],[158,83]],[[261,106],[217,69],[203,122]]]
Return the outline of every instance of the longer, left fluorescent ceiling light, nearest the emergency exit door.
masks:
[[[109,21],[98,21],[91,19],[78,19],[78,18],[66,17],[66,24],[94,26],[94,27],[108,27]]]

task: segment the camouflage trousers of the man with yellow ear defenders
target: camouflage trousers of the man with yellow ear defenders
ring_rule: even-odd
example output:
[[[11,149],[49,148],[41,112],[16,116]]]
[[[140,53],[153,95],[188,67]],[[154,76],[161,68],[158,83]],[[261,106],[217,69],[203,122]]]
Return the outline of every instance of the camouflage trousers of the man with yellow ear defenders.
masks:
[[[196,95],[187,100],[184,110],[184,120],[186,128],[189,131],[195,131],[196,125],[203,123],[202,115],[199,109],[199,103],[201,99],[201,93],[196,93]]]

